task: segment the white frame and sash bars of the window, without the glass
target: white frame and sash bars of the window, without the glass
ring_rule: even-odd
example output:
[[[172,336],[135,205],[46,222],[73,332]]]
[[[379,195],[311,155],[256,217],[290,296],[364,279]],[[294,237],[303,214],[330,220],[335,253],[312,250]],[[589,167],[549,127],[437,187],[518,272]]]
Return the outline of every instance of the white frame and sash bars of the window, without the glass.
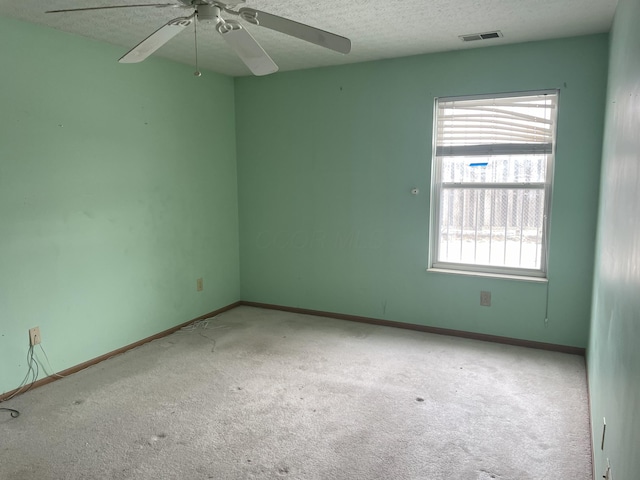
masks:
[[[539,183],[456,183],[456,188],[474,188],[474,189],[482,189],[482,188],[504,188],[504,189],[514,189],[514,188],[527,188],[527,189],[541,189],[544,190],[544,213],[543,213],[543,221],[542,221],[542,235],[541,235],[541,252],[540,252],[540,268],[539,269],[529,269],[529,268],[521,268],[521,267],[510,267],[510,266],[497,266],[497,265],[484,265],[484,264],[476,264],[476,263],[458,263],[458,262],[446,262],[446,261],[438,261],[438,248],[440,243],[440,207],[442,203],[442,194],[443,190],[447,187],[450,187],[448,184],[444,184],[441,179],[441,167],[442,167],[442,157],[447,155],[439,156],[438,153],[442,154],[444,152],[451,153],[450,150],[447,150],[448,147],[437,147],[437,137],[438,137],[438,104],[441,101],[450,102],[450,101],[463,101],[463,100],[478,100],[478,99],[500,99],[500,98],[509,98],[509,97],[524,97],[530,95],[555,95],[555,112],[552,115],[553,118],[553,133],[552,133],[552,144],[551,149],[549,150],[543,148],[541,145],[536,144],[523,144],[522,152],[523,153],[531,153],[536,149],[539,149],[540,153],[546,154],[546,175],[545,181]],[[556,134],[558,130],[558,102],[559,102],[559,90],[536,90],[536,91],[525,91],[525,92],[511,92],[511,93],[498,93],[498,94],[483,94],[483,95],[467,95],[467,96],[455,96],[455,97],[439,97],[434,101],[434,113],[433,113],[433,152],[432,152],[432,168],[431,168],[431,222],[430,222],[430,241],[429,241],[429,268],[428,270],[445,270],[445,271],[454,271],[459,273],[467,273],[467,274],[481,274],[481,275],[491,275],[491,276],[514,276],[520,278],[532,278],[532,279],[545,279],[547,277],[548,271],[548,257],[549,257],[549,225],[551,218],[551,195],[553,191],[553,170],[555,163],[555,150],[556,150]],[[476,149],[474,151],[474,148]],[[461,147],[458,146],[455,149],[457,155],[460,153],[466,152],[467,154],[478,154],[478,150],[484,150],[485,154],[496,155],[500,153],[510,153],[510,154],[518,154],[518,147],[511,145],[509,147],[508,152],[501,151],[501,146],[499,144],[496,145],[482,145],[482,146],[470,146],[470,147]],[[488,153],[491,152],[491,153]],[[454,156],[457,156],[454,155]],[[449,155],[451,156],[451,155]],[[460,155],[462,156],[462,155]]]

